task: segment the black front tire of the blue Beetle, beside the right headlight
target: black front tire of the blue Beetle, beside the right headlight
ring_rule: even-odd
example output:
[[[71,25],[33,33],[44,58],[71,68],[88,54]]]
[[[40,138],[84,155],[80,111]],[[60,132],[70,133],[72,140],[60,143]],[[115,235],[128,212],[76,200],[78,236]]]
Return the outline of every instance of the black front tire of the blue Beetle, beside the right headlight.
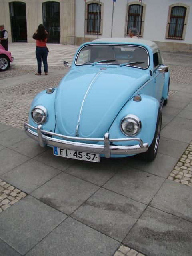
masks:
[[[159,111],[153,141],[149,146],[148,150],[145,153],[140,154],[140,158],[146,162],[151,162],[156,158],[161,133],[161,124],[162,114]]]

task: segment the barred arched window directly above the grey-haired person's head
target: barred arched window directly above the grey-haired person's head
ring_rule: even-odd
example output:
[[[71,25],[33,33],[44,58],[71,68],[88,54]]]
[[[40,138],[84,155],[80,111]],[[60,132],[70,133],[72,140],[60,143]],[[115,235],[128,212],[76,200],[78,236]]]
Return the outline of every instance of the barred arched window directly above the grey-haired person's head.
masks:
[[[139,34],[141,34],[141,27],[142,27],[142,16],[143,16],[143,6],[141,8],[141,20],[140,20],[140,4],[131,4],[128,10],[128,21],[127,21],[127,32],[129,28],[137,28]],[[139,24],[140,24],[140,31],[139,31]]]

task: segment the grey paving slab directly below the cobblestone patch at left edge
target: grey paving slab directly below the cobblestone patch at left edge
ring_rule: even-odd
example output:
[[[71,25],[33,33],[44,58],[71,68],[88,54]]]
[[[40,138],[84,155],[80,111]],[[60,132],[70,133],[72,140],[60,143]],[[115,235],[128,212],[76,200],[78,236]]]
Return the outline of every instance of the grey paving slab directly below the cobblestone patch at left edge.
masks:
[[[65,218],[62,212],[26,196],[1,212],[0,238],[24,255]]]

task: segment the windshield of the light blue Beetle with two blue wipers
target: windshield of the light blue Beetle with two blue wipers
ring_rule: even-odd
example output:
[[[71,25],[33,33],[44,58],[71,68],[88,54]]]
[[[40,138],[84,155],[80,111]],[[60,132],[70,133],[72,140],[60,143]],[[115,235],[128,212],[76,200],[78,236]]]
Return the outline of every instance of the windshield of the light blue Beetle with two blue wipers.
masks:
[[[148,68],[148,52],[145,48],[134,45],[92,44],[84,46],[78,52],[76,65],[118,64]]]

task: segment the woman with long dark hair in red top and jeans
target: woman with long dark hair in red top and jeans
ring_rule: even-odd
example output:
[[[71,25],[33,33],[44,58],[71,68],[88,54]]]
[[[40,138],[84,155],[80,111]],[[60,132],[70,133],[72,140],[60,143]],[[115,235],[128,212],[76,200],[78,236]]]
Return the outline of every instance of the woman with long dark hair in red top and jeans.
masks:
[[[44,25],[40,24],[33,35],[33,39],[36,39],[36,57],[37,57],[37,65],[38,71],[36,75],[41,75],[41,60],[43,61],[43,67],[45,75],[48,75],[48,64],[47,64],[47,55],[48,48],[46,46],[48,37],[48,32],[45,30]]]

